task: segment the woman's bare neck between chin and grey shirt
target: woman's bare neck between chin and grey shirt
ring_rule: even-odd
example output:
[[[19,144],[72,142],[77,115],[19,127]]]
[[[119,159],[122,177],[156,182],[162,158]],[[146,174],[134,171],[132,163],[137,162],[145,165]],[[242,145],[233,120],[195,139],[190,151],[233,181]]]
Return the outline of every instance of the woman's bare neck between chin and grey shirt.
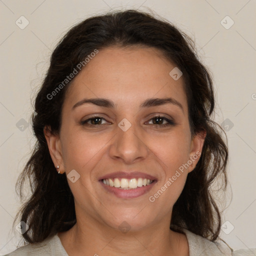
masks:
[[[186,236],[168,228],[163,221],[143,230],[122,232],[95,219],[76,224],[59,233],[69,255],[188,255]]]

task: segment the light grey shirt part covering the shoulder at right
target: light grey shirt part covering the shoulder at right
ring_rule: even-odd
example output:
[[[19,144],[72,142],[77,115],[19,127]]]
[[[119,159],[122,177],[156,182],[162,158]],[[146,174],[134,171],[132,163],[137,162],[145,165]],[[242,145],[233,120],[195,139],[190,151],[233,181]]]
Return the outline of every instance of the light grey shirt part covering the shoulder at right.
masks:
[[[256,249],[240,249],[233,251],[224,241],[209,241],[208,239],[182,229],[185,233],[189,246],[189,256],[255,256]]]

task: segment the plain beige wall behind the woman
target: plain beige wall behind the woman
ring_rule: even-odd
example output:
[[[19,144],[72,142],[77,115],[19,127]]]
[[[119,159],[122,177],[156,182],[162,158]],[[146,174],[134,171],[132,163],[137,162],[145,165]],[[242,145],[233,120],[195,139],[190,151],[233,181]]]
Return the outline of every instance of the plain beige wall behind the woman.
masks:
[[[30,113],[52,49],[67,29],[111,8],[151,8],[195,39],[216,86],[216,120],[228,118],[229,189],[221,237],[234,249],[256,247],[255,0],[0,0],[0,254],[15,248],[15,181],[33,143]],[[23,15],[29,24],[20,29]],[[220,21],[228,15],[234,24]],[[18,19],[20,20],[20,19]],[[231,20],[225,18],[225,26]],[[22,24],[25,24],[24,19]],[[221,109],[221,110],[220,110]],[[28,121],[28,128],[21,126]],[[16,123],[18,122],[18,127]],[[231,128],[230,128],[231,127]],[[24,129],[23,131],[20,129]]]

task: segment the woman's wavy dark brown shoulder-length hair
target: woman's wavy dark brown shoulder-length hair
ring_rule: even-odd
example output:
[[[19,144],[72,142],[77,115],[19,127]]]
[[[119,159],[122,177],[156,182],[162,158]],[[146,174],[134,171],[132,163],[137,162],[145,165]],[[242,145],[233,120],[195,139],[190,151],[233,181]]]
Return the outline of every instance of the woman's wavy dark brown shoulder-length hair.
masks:
[[[65,173],[58,175],[51,160],[43,128],[57,133],[67,83],[49,99],[50,93],[76,65],[95,49],[108,46],[144,45],[161,50],[166,59],[183,73],[191,134],[206,131],[201,157],[186,179],[172,211],[170,227],[184,227],[214,241],[220,231],[220,213],[211,193],[211,184],[222,177],[226,187],[227,147],[220,127],[211,120],[214,92],[209,72],[198,60],[193,41],[162,18],[137,10],[112,11],[93,16],[72,27],[51,54],[50,66],[36,95],[32,115],[37,142],[17,182],[22,198],[26,178],[32,194],[23,204],[20,221],[29,225],[23,234],[35,243],[71,228],[75,222],[73,195]],[[85,66],[86,68],[86,66]]]

